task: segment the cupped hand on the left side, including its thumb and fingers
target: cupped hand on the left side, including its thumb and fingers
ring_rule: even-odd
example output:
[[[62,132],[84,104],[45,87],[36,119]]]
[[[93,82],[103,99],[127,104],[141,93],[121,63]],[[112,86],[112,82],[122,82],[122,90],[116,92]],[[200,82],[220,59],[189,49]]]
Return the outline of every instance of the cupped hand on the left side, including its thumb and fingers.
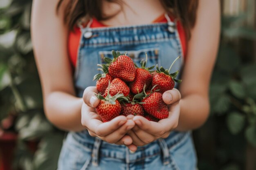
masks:
[[[82,125],[87,128],[92,137],[99,137],[99,139],[110,144],[126,145],[130,150],[135,151],[137,146],[132,144],[132,138],[126,135],[135,126],[134,121],[127,119],[125,116],[117,116],[111,121],[103,123],[101,117],[95,111],[100,100],[94,93],[98,93],[95,86],[86,88],[83,93]]]

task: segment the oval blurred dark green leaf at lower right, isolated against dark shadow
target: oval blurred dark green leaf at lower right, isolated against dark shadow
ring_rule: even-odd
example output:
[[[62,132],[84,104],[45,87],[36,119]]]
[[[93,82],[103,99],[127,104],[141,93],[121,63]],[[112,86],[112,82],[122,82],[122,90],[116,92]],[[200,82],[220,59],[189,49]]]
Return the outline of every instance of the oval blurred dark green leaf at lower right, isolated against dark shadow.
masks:
[[[245,115],[241,113],[232,112],[227,116],[227,127],[233,135],[241,132],[245,125]]]

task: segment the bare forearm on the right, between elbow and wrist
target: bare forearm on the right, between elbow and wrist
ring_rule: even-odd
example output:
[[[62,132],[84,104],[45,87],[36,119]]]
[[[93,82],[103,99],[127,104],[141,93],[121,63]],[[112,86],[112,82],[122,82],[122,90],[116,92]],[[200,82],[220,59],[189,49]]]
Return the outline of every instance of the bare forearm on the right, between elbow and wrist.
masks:
[[[180,100],[180,118],[176,130],[186,131],[200,127],[209,115],[208,97],[191,94]]]

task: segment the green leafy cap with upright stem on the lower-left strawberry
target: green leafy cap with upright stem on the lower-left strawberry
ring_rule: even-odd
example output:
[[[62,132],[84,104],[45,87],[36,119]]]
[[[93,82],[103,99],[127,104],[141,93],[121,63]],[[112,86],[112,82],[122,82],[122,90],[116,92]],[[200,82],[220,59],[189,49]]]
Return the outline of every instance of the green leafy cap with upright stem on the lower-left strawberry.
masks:
[[[95,96],[100,99],[100,100],[105,100],[105,101],[108,101],[110,102],[110,104],[116,104],[116,100],[118,99],[119,101],[122,101],[122,100],[126,100],[126,101],[129,101],[129,99],[127,97],[124,96],[124,94],[121,94],[121,93],[117,93],[116,95],[114,96],[111,96],[109,94],[109,91],[110,91],[110,81],[108,82],[108,95],[106,97],[103,97],[101,95],[101,93],[97,94],[97,93],[94,93]]]

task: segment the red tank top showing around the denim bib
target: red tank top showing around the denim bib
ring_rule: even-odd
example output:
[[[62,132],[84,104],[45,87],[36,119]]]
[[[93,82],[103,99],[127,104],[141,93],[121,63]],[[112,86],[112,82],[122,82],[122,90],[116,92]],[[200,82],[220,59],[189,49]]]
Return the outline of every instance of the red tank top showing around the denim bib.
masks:
[[[171,18],[173,21],[173,18]],[[153,23],[161,23],[161,22],[167,22],[164,14],[161,15],[159,18],[153,21]],[[99,28],[99,27],[106,27],[106,25],[102,24],[101,22],[97,21],[95,18],[92,19],[92,24],[90,26],[91,28]],[[177,21],[177,31],[180,35],[180,41],[182,45],[182,51],[184,54],[184,57],[186,56],[186,50],[187,50],[187,43],[186,43],[186,33],[185,30],[180,23],[180,21]],[[72,62],[73,66],[76,66],[76,58],[77,58],[77,51],[79,48],[79,41],[81,37],[81,31],[79,27],[75,27],[74,31],[70,31],[68,36],[68,53],[70,56],[70,61]]]

